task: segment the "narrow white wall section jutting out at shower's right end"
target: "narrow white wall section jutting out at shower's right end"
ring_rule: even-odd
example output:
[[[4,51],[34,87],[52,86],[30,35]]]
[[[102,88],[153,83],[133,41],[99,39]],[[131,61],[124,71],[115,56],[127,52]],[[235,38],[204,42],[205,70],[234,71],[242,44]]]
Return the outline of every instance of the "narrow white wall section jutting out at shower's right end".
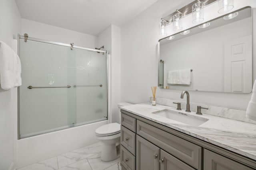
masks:
[[[110,54],[109,72],[110,72],[110,112],[111,122],[120,122],[117,104],[120,102],[120,27],[110,25],[98,36],[98,45],[104,45],[104,50]]]

